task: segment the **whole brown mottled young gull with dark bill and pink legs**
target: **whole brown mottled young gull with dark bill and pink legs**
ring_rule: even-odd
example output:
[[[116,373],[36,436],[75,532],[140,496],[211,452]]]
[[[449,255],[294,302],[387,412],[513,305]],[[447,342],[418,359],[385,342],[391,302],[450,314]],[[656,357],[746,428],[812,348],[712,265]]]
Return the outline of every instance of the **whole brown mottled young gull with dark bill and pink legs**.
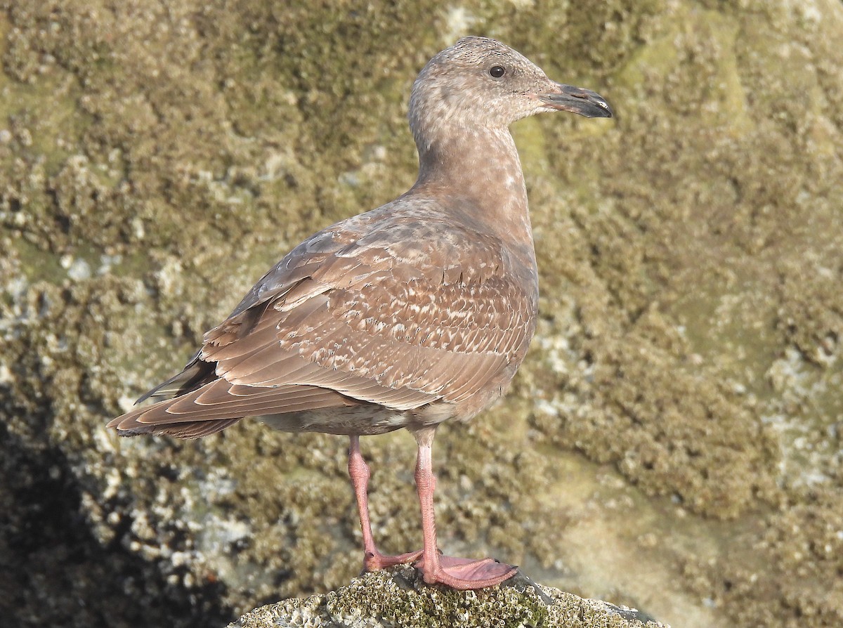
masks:
[[[425,582],[496,585],[516,567],[442,556],[433,434],[497,400],[524,360],[539,296],[527,191],[509,125],[543,111],[610,117],[496,40],[465,37],[413,84],[419,174],[410,191],[315,233],[207,332],[185,369],[110,421],[124,435],[196,438],[257,416],[287,432],[351,437],[368,570],[414,562]],[[405,427],[418,443],[423,547],[385,556],[368,518],[359,437]]]

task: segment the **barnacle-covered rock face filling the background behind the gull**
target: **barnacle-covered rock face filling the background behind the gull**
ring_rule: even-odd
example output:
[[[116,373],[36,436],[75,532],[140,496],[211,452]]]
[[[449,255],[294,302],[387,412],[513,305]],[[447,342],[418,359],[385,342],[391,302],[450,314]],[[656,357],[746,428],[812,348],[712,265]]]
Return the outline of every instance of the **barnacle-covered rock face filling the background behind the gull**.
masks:
[[[344,438],[104,426],[411,185],[411,82],[477,34],[617,116],[513,127],[542,319],[439,431],[441,544],[685,628],[843,624],[843,3],[291,5],[0,1],[2,623],[224,625],[357,575]],[[362,444],[384,550],[419,545],[411,437]]]

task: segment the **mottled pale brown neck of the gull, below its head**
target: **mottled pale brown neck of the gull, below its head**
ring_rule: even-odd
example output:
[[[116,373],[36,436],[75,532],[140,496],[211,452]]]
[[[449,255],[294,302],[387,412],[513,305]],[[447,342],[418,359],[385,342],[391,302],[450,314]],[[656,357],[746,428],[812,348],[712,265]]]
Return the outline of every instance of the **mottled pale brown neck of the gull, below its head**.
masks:
[[[464,219],[502,239],[534,266],[527,188],[509,129],[463,126],[419,139],[419,177],[413,191],[456,195]]]

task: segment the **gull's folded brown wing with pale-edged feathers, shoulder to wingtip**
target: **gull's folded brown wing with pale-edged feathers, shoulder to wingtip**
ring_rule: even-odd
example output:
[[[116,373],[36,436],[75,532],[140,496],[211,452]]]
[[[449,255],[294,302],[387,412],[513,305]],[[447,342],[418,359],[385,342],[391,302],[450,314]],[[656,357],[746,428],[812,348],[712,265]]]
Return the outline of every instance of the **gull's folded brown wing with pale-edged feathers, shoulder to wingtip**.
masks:
[[[191,437],[201,421],[456,404],[523,359],[534,290],[499,240],[431,216],[353,221],[294,249],[207,332],[185,371],[151,391],[175,399],[110,425],[183,424]]]

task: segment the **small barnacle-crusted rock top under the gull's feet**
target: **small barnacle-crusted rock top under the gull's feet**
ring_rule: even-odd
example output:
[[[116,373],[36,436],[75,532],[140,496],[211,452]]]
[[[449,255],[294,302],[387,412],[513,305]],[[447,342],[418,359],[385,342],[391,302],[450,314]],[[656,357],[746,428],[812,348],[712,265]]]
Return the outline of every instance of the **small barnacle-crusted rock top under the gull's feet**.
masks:
[[[636,609],[543,587],[520,572],[500,587],[430,587],[408,566],[344,587],[267,604],[228,628],[669,628]]]

